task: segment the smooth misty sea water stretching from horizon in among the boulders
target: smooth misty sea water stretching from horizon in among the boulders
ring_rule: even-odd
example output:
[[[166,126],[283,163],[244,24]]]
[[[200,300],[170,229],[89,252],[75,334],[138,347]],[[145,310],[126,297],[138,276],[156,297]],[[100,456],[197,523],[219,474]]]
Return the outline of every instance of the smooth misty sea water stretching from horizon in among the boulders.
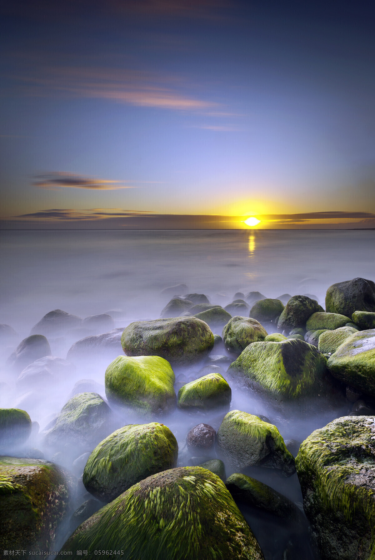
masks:
[[[12,339],[1,340],[0,407],[26,410],[40,430],[32,432],[22,449],[13,450],[22,456],[30,447],[52,460],[56,449],[49,449],[43,430],[65,402],[72,396],[79,380],[92,380],[95,391],[105,399],[104,375],[107,365],[121,354],[121,346],[93,356],[72,358],[73,366],[65,367],[56,385],[25,386],[17,375],[8,371],[6,360],[17,344],[29,336],[47,312],[62,309],[79,317],[108,313],[113,318],[111,329],[125,328],[134,320],[157,319],[170,299],[161,291],[184,283],[186,293],[203,293],[211,303],[227,305],[236,292],[259,291],[266,297],[310,294],[324,307],[325,292],[332,283],[354,277],[375,279],[375,232],[343,231],[4,231],[2,232],[2,302],[0,323],[16,331]],[[264,324],[268,333],[273,324]],[[110,330],[110,329],[107,329]],[[103,330],[72,329],[49,338],[53,356],[66,358],[76,340]],[[221,329],[213,329],[221,334]],[[213,354],[228,355],[224,347]],[[233,358],[232,358],[233,359]],[[199,377],[199,370],[209,361],[184,370],[175,370],[186,377]],[[226,368],[221,373],[226,377]],[[284,440],[302,442],[316,428],[350,410],[343,401],[332,410],[317,407],[316,413],[302,413],[298,406],[275,410],[235,379],[227,379],[232,389],[231,409],[262,414],[274,423]],[[227,410],[187,413],[175,410],[164,416],[136,417],[114,410],[113,430],[127,423],[144,423],[151,419],[168,426],[179,443],[179,465],[190,464],[185,438],[191,427],[203,422],[218,429]],[[109,432],[110,433],[110,432]],[[86,449],[84,451],[91,451]],[[58,455],[59,464],[77,478],[82,474],[73,468],[73,461],[82,448],[73,446]],[[190,454],[191,455],[191,454]],[[210,456],[215,456],[214,452]],[[55,455],[56,458],[56,455]],[[226,474],[233,472],[226,464]],[[297,474],[284,478],[278,471],[252,468],[243,471],[275,488],[294,502],[302,502]],[[81,484],[72,502],[77,508],[87,500]],[[298,554],[318,558],[312,548],[308,525],[302,531],[271,515],[254,512],[241,506],[254,531],[266,560],[281,560],[290,538]],[[69,535],[68,523],[62,525],[58,546]],[[299,547],[299,548],[298,548]],[[296,552],[297,554],[297,552]],[[298,556],[296,556],[298,557]],[[301,557],[301,556],[300,556]]]

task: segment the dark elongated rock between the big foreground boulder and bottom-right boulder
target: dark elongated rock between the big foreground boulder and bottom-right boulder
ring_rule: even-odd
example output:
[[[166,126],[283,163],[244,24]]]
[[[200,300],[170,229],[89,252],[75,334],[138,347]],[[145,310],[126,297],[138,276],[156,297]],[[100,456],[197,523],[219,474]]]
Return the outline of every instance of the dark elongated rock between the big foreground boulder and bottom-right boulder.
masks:
[[[225,485],[236,503],[258,507],[292,523],[299,524],[302,521],[301,511],[295,503],[255,478],[233,473],[227,478]]]

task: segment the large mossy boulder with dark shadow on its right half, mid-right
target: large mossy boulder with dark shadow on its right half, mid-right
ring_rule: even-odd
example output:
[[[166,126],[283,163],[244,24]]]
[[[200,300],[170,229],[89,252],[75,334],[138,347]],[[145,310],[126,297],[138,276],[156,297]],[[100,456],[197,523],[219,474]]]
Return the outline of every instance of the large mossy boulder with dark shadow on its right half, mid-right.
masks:
[[[326,358],[304,340],[250,344],[228,368],[228,374],[242,376],[257,393],[282,405],[287,401],[307,404],[330,388],[326,380]]]

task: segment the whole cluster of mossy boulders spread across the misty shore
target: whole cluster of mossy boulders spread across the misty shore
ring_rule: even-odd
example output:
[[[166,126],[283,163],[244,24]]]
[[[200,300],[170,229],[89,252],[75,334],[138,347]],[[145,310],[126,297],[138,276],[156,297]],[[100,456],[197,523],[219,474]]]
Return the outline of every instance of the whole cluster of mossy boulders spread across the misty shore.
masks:
[[[10,456],[12,446],[27,442],[32,422],[21,408],[0,409],[0,548],[52,547],[65,523],[62,552],[73,557],[101,549],[145,560],[262,559],[238,506],[307,531],[296,503],[248,476],[251,468],[265,468],[284,477],[297,470],[322,558],[372,558],[375,284],[363,278],[334,284],[325,310],[310,296],[236,293],[223,308],[203,294],[177,295],[160,319],[83,338],[67,360],[51,356],[45,335],[96,324],[100,316],[82,321],[59,310],[47,314],[8,358],[18,386],[57,383],[93,346],[121,344],[124,353],[106,368],[106,398],[100,384],[80,380],[44,428],[51,461],[37,449],[29,458]],[[218,327],[221,335],[212,332]],[[233,384],[276,410],[290,403],[301,412],[337,410],[348,402],[351,410],[294,450],[268,418],[230,409]],[[145,423],[116,427],[124,410]],[[216,429],[196,424],[179,449],[160,421],[173,410],[217,410],[221,421]],[[64,453],[72,448],[76,459],[67,470]],[[79,485],[77,504],[71,494]],[[285,559],[292,557],[290,547]]]

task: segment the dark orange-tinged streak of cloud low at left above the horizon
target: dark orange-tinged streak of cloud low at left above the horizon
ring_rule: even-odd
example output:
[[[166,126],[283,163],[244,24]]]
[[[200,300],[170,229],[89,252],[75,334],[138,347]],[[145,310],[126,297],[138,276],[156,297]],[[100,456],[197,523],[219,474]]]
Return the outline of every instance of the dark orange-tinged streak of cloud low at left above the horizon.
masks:
[[[53,171],[36,175],[33,185],[41,189],[56,189],[59,187],[72,189],[115,190],[134,189],[132,185],[124,185],[127,181],[113,181],[109,179],[95,179],[84,175],[76,175],[63,171]]]

